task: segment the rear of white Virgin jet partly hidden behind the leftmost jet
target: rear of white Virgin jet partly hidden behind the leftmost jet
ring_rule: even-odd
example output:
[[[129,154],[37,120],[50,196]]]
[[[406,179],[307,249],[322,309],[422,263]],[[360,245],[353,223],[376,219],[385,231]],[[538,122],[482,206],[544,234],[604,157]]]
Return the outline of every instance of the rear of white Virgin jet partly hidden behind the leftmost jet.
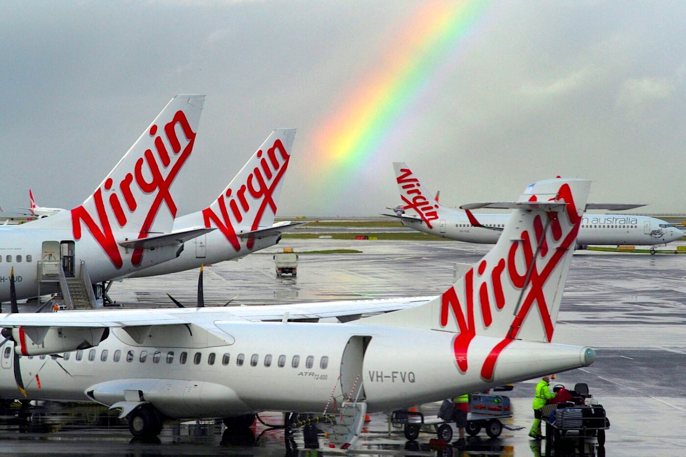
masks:
[[[203,226],[217,229],[187,243],[185,250],[165,263],[132,274],[132,277],[174,273],[201,264],[237,260],[281,240],[296,222],[274,224],[283,176],[291,157],[294,128],[278,128],[209,207],[174,220],[174,231]]]

